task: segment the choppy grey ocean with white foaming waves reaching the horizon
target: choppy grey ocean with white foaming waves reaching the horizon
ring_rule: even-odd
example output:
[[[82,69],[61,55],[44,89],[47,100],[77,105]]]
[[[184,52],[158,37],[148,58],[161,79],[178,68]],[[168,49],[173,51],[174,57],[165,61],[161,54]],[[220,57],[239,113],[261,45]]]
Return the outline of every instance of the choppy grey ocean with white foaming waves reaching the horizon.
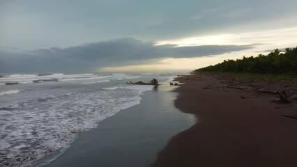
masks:
[[[153,86],[173,73],[10,74],[0,77],[0,166],[30,166],[65,150],[77,134],[139,104]]]

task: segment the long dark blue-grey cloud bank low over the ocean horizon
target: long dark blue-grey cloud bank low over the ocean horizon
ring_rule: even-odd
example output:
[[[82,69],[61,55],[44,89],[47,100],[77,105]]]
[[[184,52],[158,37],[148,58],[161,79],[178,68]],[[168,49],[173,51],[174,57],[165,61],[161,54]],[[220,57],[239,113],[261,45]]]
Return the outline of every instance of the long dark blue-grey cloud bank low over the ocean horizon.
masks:
[[[254,45],[204,45],[177,47],[133,38],[94,42],[28,53],[0,48],[0,72],[87,72],[98,67],[151,63],[161,58],[193,58],[251,49]]]

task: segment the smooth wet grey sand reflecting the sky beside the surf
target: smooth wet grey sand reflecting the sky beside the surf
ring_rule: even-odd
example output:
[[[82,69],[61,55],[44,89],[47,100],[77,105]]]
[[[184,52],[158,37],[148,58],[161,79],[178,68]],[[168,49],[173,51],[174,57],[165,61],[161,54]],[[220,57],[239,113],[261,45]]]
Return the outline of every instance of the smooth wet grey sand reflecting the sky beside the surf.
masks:
[[[79,134],[47,166],[149,166],[172,136],[196,122],[192,114],[176,109],[177,93],[173,88],[176,87],[166,83],[158,90],[146,91],[140,104],[119,111],[102,120],[97,128]]]

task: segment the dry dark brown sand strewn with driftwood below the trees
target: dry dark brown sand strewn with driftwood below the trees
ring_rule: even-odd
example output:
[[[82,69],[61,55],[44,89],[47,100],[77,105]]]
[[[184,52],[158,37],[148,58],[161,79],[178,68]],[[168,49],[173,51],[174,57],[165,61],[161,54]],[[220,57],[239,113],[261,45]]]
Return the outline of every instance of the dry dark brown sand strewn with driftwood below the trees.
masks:
[[[297,166],[296,100],[277,104],[269,94],[285,89],[294,98],[296,84],[209,74],[178,81],[185,84],[175,105],[197,123],[171,138],[152,166]]]

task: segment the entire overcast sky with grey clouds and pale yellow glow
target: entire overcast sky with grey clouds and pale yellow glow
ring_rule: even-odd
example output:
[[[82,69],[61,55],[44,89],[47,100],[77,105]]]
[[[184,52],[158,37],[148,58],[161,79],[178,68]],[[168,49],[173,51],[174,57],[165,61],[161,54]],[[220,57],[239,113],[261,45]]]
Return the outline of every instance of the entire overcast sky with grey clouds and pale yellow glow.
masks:
[[[297,46],[296,0],[0,0],[0,73],[195,70]]]

